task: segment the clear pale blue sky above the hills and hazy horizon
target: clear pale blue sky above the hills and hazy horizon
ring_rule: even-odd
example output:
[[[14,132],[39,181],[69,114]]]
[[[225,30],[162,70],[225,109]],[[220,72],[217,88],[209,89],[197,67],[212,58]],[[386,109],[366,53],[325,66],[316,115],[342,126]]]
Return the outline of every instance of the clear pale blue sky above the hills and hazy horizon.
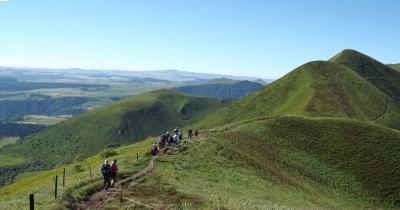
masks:
[[[396,0],[0,1],[0,65],[279,78],[345,48],[400,63]]]

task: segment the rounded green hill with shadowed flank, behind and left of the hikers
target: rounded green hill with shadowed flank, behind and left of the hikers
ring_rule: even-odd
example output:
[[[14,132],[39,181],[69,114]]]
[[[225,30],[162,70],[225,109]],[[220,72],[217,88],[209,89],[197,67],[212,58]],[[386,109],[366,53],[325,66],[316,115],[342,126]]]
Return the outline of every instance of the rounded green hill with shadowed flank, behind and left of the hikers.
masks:
[[[0,162],[13,157],[24,159],[25,165],[21,162],[16,166],[7,163],[8,168],[0,175],[4,183],[21,170],[69,163],[77,156],[93,155],[107,147],[159,135],[175,126],[195,122],[228,103],[219,99],[184,96],[171,90],[153,91],[118,101],[1,148]]]

